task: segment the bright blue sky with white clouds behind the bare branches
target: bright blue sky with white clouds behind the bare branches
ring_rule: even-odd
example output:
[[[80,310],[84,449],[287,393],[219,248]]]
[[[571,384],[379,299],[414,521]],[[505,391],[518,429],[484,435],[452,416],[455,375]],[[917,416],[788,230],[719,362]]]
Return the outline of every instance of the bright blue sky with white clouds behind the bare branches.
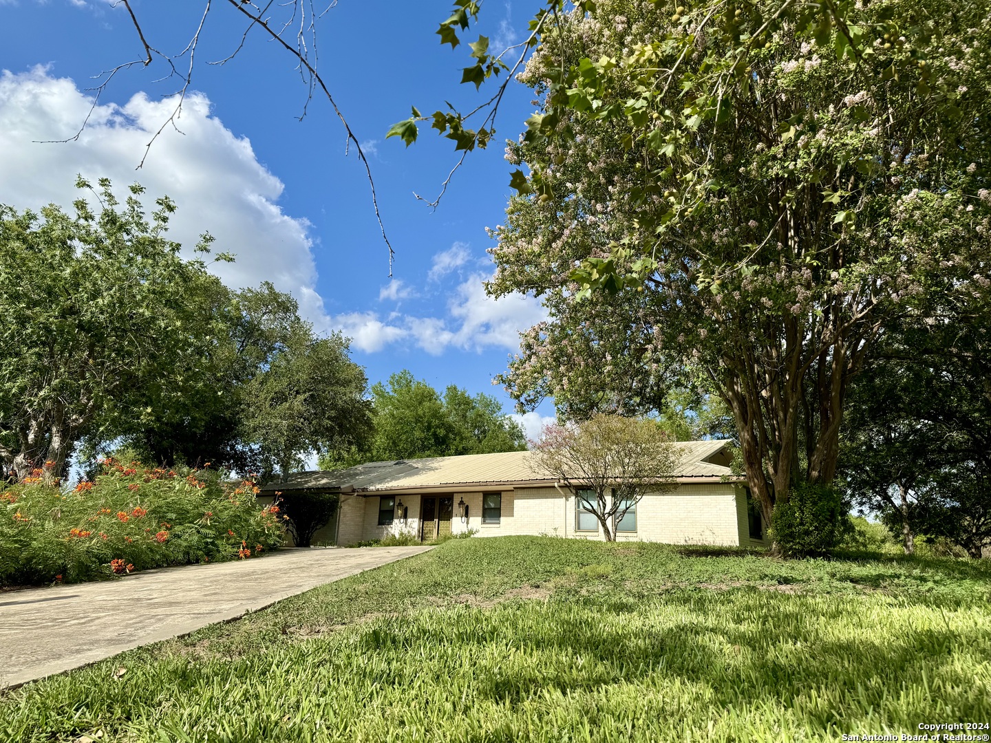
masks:
[[[205,0],[132,4],[149,43],[174,54],[189,42]],[[533,10],[488,0],[472,41],[477,33],[494,48],[521,40]],[[449,12],[447,0],[339,0],[317,27],[321,73],[372,163],[396,252],[392,279],[364,168],[354,154],[345,158],[345,133],[329,104],[314,97],[298,121],[306,88],[292,58],[254,33],[231,61],[207,64],[233,52],[245,28],[218,0],[200,34],[181,133],[166,127],[140,170],[145,145],[174,108],[167,96],[180,87],[175,78],[159,80],[161,61],[117,73],[78,141],[35,142],[73,136],[91,105],[91,78],[142,56],[124,7],[0,0],[0,202],[67,206],[76,172],[121,186],[137,180],[178,203],[175,239],[191,246],[207,230],[218,250],[237,254],[235,265],[218,269],[228,283],[273,280],[318,329],[353,337],[354,359],[371,381],[405,368],[438,388],[456,383],[495,394],[508,411],[511,401],[492,377],[515,351],[516,332],[542,310],[532,297],[485,296],[482,281],[493,271],[485,228],[503,216],[512,168],[501,143],[522,131],[531,93],[510,85],[494,144],[466,159],[435,211],[412,194],[439,192],[456,161],[453,144],[426,127],[409,149],[385,141],[411,105],[474,108],[491,95],[458,84],[468,53],[442,48],[434,33]],[[539,413],[552,415],[552,405]],[[532,435],[539,416],[525,422]]]

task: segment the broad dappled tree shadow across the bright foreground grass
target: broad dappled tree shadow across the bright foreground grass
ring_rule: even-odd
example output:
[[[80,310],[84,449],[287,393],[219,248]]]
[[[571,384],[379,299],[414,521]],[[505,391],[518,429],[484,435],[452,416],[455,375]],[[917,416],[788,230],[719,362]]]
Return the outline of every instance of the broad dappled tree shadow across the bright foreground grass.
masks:
[[[471,662],[475,692],[508,704],[548,691],[568,695],[637,685],[660,675],[706,690],[713,709],[783,705],[825,729],[902,704],[908,716],[897,722],[909,724],[912,714],[931,708],[930,685],[945,674],[959,678],[955,688],[942,688],[940,704],[977,716],[991,706],[977,701],[982,692],[972,693],[976,682],[960,667],[967,659],[959,657],[981,662],[991,647],[986,625],[951,630],[907,622],[870,632],[855,619],[844,624],[853,607],[836,604],[823,612],[815,598],[768,600],[752,588],[726,603],[724,594],[672,592],[640,608],[677,613],[690,606],[675,626],[650,628],[637,621],[634,629],[636,607],[622,598],[585,605],[516,602],[489,613],[451,611],[444,622],[419,616],[401,629],[378,624],[362,633],[359,645],[370,656],[386,651],[415,657],[425,648],[454,648],[463,662]],[[837,637],[843,627],[846,636]],[[519,654],[531,661],[498,660]],[[443,656],[440,651],[438,670],[445,666]],[[437,683],[444,683],[442,676]]]

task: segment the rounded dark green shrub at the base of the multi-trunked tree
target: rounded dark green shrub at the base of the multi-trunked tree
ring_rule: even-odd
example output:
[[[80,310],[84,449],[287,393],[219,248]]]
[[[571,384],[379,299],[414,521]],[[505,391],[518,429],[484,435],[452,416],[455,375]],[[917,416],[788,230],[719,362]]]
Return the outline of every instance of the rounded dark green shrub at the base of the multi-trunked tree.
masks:
[[[829,485],[800,482],[774,506],[771,538],[786,557],[826,555],[850,530],[846,504]]]

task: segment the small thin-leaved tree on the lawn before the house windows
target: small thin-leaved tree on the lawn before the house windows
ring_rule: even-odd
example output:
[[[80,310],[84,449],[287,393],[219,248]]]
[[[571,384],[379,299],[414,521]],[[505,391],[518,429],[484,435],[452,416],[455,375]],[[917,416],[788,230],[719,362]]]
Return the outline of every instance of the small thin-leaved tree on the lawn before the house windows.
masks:
[[[651,421],[599,413],[574,426],[551,424],[533,453],[542,474],[558,478],[596,514],[607,542],[646,493],[676,486],[679,450]]]

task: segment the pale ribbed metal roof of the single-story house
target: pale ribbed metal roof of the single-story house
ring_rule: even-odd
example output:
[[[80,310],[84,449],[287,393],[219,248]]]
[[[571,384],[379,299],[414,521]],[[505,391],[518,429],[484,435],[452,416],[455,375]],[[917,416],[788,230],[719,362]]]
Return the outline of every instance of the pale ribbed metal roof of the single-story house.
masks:
[[[685,441],[676,477],[681,482],[721,479],[731,475],[726,447],[729,441]],[[417,460],[370,462],[347,470],[306,472],[269,482],[262,494],[291,490],[378,493],[430,489],[467,489],[488,486],[534,486],[551,484],[539,472],[531,452],[469,454],[461,457],[428,457]]]

